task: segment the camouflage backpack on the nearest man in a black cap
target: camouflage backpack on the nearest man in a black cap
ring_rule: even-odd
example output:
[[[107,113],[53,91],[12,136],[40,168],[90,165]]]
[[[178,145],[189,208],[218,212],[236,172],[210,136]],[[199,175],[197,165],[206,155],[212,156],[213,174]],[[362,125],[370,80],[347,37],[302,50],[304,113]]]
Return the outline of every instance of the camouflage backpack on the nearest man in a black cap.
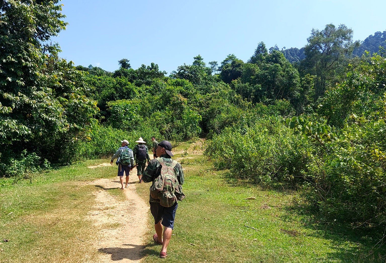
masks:
[[[173,160],[171,165],[168,166],[164,163],[162,158],[157,158],[157,161],[162,166],[161,174],[154,179],[153,184],[150,187],[150,195],[154,199],[159,199],[161,206],[171,207],[177,200],[185,198],[185,196],[183,198],[176,197],[176,194],[181,195],[182,193],[182,187],[178,183],[177,175],[174,170],[174,167],[178,163]]]

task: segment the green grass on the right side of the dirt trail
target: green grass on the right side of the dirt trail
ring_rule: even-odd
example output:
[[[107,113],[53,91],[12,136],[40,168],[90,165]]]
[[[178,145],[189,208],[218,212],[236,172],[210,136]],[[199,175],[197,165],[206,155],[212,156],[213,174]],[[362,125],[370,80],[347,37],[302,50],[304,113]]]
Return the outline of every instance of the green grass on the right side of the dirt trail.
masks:
[[[382,233],[325,224],[294,208],[296,193],[228,184],[225,171],[194,157],[183,164],[187,197],[179,202],[168,262],[385,262],[384,247],[372,250]],[[146,201],[148,187],[137,188]],[[153,246],[150,214],[149,222],[146,263],[158,262],[161,248]]]

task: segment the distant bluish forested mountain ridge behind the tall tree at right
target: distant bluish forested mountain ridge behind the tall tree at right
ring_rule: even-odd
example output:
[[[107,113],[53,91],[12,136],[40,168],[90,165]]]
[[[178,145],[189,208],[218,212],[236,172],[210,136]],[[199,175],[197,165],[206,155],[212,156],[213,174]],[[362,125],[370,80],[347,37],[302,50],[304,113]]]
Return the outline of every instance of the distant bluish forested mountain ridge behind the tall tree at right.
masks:
[[[367,50],[370,54],[378,52],[379,46],[386,49],[386,30],[383,32],[375,32],[374,35],[369,35],[361,45],[354,49],[352,52],[353,56],[361,57]],[[300,62],[305,59],[304,47],[298,49],[297,47],[291,47],[289,49],[282,49],[280,52],[284,54],[284,57],[291,63]]]

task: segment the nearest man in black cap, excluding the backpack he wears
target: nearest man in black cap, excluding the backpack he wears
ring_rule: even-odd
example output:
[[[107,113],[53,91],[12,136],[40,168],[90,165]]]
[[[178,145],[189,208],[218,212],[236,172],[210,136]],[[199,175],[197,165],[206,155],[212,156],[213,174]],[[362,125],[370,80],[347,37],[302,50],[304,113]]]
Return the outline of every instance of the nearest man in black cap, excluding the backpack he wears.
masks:
[[[179,185],[184,183],[184,172],[182,170],[181,164],[171,158],[173,156],[171,149],[171,143],[168,141],[162,141],[158,144],[156,154],[159,156],[159,158],[151,160],[149,165],[147,165],[147,168],[143,174],[144,182],[153,182],[153,187],[156,179],[161,174],[161,170],[165,171],[166,169],[168,172],[173,170],[174,176],[177,178]],[[150,188],[152,189],[152,187]],[[156,244],[162,245],[161,253],[159,253],[159,256],[161,258],[166,258],[168,256],[167,248],[171,239],[171,233],[174,228],[174,218],[176,216],[178,203],[176,201],[170,207],[161,206],[161,200],[154,199],[151,195],[149,202],[150,211],[154,217],[154,229],[156,230],[156,234],[153,235],[153,240]]]

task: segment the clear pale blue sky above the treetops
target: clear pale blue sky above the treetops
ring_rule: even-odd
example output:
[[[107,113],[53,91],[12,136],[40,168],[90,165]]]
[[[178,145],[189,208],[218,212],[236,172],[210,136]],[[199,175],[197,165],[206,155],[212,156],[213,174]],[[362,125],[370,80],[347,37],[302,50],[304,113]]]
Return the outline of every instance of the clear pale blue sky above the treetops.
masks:
[[[312,28],[345,24],[354,40],[386,30],[385,0],[62,0],[67,29],[53,40],[75,65],[114,71],[155,62],[168,74],[200,54],[247,61],[257,44],[303,47]]]

